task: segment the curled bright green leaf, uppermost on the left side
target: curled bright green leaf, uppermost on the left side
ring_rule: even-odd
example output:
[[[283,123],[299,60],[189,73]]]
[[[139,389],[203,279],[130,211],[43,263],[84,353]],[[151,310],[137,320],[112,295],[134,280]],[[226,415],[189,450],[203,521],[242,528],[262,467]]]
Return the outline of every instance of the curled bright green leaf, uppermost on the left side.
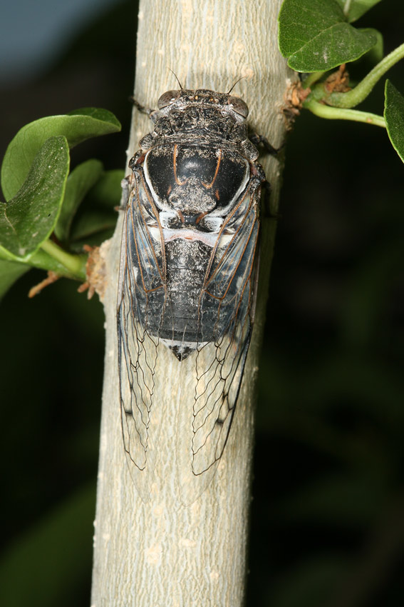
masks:
[[[70,148],[90,137],[116,133],[120,123],[104,109],[83,108],[63,116],[47,116],[26,124],[9,144],[1,166],[4,197],[11,199],[24,183],[41,145],[51,136],[64,135]]]

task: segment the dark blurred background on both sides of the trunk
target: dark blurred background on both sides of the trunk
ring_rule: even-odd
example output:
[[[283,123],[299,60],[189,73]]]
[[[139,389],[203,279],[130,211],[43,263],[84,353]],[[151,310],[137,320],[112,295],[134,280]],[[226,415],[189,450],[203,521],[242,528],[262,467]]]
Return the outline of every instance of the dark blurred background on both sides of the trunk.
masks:
[[[33,3],[33,29],[53,10],[46,4]],[[391,9],[382,2],[361,20],[383,32],[385,54],[403,42],[403,9],[394,19]],[[98,106],[123,132],[78,146],[73,164],[97,157],[107,169],[125,166],[136,14],[134,2],[88,3],[85,19],[71,16],[63,31],[55,17],[42,63],[26,49],[28,71],[18,68],[24,53],[3,71],[1,157],[24,124]],[[10,65],[17,59],[11,49]],[[353,76],[369,68],[363,60]],[[402,93],[403,75],[403,64],[388,74]],[[383,112],[383,84],[364,107]],[[402,181],[383,129],[308,112],[296,121],[261,360],[248,606],[402,604]],[[41,279],[29,271],[0,308],[0,601],[84,607],[103,310],[66,280],[27,299]]]

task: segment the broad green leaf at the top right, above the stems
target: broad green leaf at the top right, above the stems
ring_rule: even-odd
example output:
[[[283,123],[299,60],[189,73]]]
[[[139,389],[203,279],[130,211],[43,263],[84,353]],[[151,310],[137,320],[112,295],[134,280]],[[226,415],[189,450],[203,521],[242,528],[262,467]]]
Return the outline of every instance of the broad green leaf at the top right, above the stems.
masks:
[[[355,61],[376,44],[375,35],[346,22],[336,0],[284,0],[279,49],[296,71],[326,71]]]

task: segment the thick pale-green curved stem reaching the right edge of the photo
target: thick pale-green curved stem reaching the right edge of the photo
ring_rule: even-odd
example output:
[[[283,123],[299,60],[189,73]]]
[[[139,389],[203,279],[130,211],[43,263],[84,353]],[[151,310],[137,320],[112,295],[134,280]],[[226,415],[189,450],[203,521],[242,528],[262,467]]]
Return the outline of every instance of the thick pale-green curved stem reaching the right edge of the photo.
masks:
[[[373,89],[377,81],[385,74],[390,67],[396,64],[404,57],[404,44],[400,44],[397,49],[386,55],[365,78],[356,85],[354,89],[348,93],[331,93],[331,95],[323,97],[328,105],[339,108],[352,108],[366,99],[368,94]]]

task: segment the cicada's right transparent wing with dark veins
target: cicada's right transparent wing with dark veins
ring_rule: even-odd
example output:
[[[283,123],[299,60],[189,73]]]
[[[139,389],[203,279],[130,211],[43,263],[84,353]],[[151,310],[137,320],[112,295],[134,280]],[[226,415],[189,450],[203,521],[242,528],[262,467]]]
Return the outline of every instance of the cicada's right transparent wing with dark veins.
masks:
[[[212,333],[212,326],[214,338],[202,341],[197,351],[190,444],[185,445],[184,435],[178,433],[178,473],[185,504],[195,501],[212,480],[232,426],[252,331],[259,191],[258,185],[247,189],[227,218],[201,294],[202,340]],[[227,232],[233,229],[229,238]],[[185,415],[179,412],[181,430]]]

